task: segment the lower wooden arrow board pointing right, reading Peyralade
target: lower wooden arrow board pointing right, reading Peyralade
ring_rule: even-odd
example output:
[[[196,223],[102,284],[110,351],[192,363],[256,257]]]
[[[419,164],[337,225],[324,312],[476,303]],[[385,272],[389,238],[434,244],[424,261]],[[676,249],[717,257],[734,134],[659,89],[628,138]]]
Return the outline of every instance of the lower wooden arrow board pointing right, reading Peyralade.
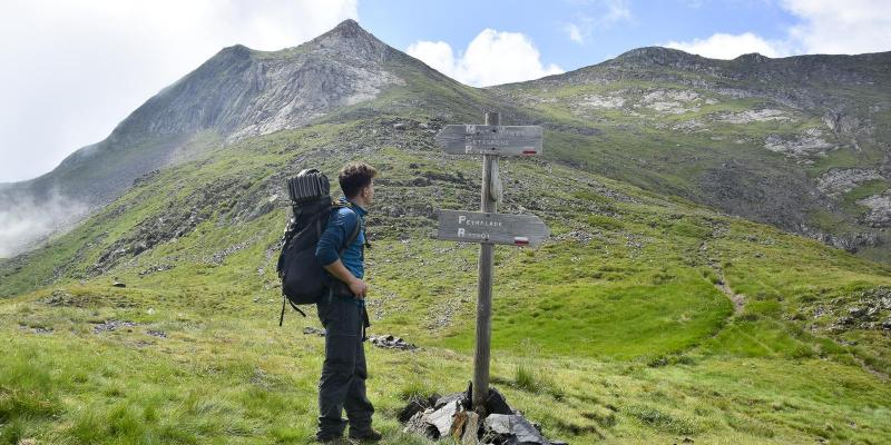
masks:
[[[484,214],[440,210],[437,238],[510,246],[537,246],[550,235],[535,215]]]

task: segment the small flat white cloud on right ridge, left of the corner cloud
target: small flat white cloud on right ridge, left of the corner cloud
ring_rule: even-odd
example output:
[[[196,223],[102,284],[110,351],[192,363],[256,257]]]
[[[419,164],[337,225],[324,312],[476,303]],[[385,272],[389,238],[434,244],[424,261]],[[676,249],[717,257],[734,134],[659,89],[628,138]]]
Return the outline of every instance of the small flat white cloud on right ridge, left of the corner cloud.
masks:
[[[694,39],[686,42],[670,41],[663,46],[712,59],[733,59],[750,52],[757,52],[767,57],[786,55],[782,42],[771,42],[751,32],[735,36],[716,33],[707,39]]]

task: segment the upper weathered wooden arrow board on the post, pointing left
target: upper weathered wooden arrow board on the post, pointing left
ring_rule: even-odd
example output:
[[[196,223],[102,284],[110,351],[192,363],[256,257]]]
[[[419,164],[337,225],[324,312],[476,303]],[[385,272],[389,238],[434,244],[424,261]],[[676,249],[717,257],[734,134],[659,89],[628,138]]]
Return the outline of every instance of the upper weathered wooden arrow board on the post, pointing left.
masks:
[[[539,126],[450,125],[437,134],[437,144],[452,155],[541,155]]]

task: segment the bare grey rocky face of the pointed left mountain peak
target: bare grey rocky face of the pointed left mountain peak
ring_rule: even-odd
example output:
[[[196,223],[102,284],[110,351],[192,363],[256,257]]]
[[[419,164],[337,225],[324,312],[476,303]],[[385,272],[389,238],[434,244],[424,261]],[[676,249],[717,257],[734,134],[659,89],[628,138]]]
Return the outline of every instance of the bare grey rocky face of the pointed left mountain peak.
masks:
[[[133,137],[214,128],[238,138],[298,127],[404,85],[388,71],[394,53],[352,20],[281,51],[236,44],[151,98],[116,132]]]

